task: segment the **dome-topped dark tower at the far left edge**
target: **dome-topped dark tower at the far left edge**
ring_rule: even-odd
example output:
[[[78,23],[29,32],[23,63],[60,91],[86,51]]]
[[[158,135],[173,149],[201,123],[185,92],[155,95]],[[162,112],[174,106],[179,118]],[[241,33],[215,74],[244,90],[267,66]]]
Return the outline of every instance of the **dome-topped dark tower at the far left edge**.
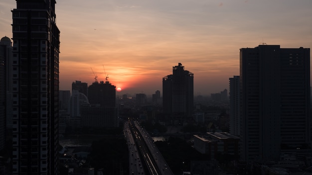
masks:
[[[0,150],[8,139],[7,128],[12,127],[11,61],[12,42],[4,36],[0,40]]]

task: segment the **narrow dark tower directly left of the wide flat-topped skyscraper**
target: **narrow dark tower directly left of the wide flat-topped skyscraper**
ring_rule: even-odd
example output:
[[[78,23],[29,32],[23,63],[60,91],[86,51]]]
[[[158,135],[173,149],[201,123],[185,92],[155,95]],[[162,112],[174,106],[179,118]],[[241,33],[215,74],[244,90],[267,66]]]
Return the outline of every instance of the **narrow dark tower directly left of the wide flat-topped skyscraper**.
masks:
[[[239,76],[230,78],[230,133],[240,135],[240,84]]]

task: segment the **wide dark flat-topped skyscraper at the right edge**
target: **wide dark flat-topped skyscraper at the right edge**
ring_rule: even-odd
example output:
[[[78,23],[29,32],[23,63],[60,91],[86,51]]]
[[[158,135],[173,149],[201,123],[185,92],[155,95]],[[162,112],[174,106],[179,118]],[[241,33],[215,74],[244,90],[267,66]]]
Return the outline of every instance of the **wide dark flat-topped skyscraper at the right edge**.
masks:
[[[246,161],[279,160],[311,145],[310,49],[240,49],[241,139]]]

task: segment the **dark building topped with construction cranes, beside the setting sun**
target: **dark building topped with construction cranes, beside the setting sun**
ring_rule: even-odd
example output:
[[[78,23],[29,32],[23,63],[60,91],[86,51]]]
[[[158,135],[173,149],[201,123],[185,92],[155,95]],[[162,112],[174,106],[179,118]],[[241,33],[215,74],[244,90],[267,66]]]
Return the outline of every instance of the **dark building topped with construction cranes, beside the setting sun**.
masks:
[[[116,87],[108,81],[94,82],[88,87],[90,104],[100,104],[102,107],[116,107]]]

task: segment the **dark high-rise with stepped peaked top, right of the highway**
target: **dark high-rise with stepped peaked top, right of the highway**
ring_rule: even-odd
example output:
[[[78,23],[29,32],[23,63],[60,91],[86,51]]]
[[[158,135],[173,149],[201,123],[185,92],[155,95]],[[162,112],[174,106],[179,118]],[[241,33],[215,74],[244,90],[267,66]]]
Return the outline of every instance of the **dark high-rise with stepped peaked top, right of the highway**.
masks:
[[[172,67],[172,75],[162,78],[162,104],[164,113],[174,117],[190,117],[193,113],[194,74],[184,66]]]

